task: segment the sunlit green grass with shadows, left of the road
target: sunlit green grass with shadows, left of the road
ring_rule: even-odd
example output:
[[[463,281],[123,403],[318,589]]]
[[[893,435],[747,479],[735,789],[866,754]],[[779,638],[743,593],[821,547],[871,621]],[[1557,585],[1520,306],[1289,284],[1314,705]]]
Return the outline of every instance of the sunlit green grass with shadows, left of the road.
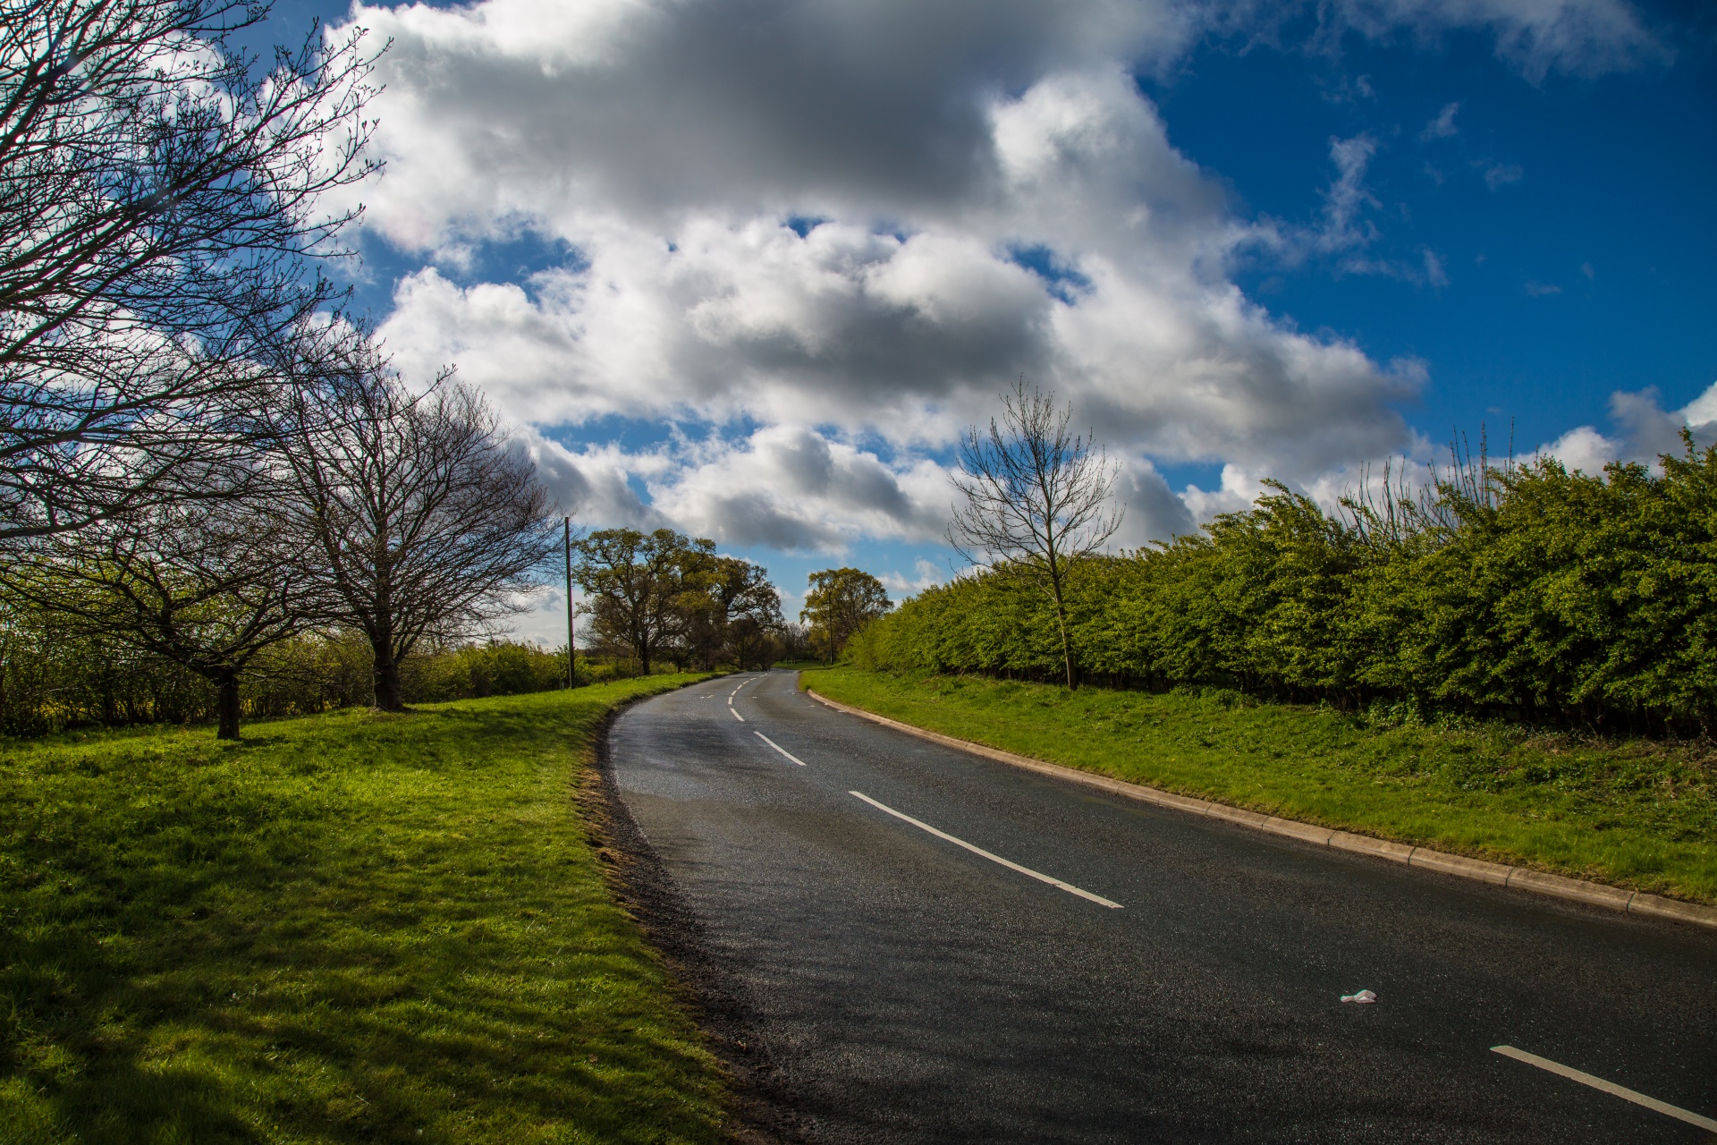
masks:
[[[580,817],[699,676],[0,743],[0,1142],[719,1142]]]

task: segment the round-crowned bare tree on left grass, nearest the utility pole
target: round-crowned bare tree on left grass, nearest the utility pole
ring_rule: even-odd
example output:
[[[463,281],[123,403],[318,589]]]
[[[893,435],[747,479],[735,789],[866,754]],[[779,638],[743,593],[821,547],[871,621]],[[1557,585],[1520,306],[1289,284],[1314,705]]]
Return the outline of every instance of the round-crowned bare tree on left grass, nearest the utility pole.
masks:
[[[558,520],[474,391],[443,376],[414,395],[355,333],[304,362],[314,385],[280,429],[304,575],[326,585],[325,618],[369,640],[376,706],[402,711],[400,661],[519,611]]]

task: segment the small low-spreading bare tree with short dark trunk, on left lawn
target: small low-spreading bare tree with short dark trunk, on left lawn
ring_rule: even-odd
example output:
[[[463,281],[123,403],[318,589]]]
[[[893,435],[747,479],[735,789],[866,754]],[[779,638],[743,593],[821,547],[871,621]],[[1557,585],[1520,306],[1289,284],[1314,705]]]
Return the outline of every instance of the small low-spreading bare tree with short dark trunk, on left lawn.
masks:
[[[0,579],[82,637],[118,640],[215,687],[221,740],[239,738],[239,683],[266,647],[318,615],[285,522],[261,482],[38,539]]]

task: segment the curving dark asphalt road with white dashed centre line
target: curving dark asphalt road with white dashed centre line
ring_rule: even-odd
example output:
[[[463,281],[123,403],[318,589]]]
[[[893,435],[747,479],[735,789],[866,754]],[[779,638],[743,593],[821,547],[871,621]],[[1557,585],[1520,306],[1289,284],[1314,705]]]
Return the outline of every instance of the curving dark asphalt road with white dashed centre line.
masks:
[[[792,673],[627,711],[610,766],[814,1140],[1717,1140],[1490,1051],[1717,1116],[1717,934],[1133,803]]]

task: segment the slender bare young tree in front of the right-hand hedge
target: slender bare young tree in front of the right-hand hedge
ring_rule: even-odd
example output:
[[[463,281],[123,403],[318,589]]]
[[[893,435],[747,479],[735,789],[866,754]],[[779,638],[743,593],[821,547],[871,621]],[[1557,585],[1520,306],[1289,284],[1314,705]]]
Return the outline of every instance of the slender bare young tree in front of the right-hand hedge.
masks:
[[[1113,506],[1118,462],[1092,451],[1090,436],[1070,434],[1073,407],[1027,390],[1022,379],[1001,395],[1001,421],[967,429],[953,482],[965,498],[953,506],[948,542],[974,565],[1022,577],[1054,601],[1068,688],[1078,687],[1068,640],[1068,579],[1078,561],[1102,551],[1121,525]]]

